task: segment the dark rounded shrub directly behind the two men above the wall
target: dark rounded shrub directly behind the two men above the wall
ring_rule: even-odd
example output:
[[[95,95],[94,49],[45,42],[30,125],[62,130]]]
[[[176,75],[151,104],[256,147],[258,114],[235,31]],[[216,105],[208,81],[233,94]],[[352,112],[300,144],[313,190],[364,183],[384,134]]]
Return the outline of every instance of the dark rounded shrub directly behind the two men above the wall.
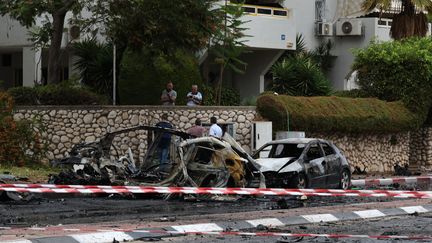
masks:
[[[128,50],[121,63],[119,79],[123,105],[160,105],[161,92],[170,80],[177,91],[176,105],[186,105],[186,95],[192,84],[197,84],[202,91],[196,58],[181,50],[172,57],[146,50]]]

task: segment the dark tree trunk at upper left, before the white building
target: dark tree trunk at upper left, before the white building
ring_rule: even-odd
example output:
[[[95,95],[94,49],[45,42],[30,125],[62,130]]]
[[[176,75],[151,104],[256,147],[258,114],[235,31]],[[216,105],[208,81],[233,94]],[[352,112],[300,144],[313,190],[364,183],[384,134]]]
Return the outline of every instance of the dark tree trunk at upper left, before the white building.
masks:
[[[60,53],[66,12],[56,12],[52,17],[53,32],[51,34],[51,45],[48,50],[48,84],[60,83],[60,81],[62,81]]]

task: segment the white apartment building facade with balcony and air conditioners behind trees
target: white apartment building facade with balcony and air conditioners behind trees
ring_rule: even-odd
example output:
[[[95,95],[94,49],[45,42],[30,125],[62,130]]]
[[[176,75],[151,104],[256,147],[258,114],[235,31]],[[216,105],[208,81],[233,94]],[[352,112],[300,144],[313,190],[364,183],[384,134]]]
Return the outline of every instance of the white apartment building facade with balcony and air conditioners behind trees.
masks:
[[[265,91],[265,74],[285,51],[295,50],[298,33],[303,35],[308,49],[327,39],[333,42],[334,65],[328,77],[337,90],[355,87],[351,75],[353,48],[366,47],[374,39],[390,40],[391,20],[362,17],[359,0],[246,2],[243,18],[249,51],[240,59],[248,65],[243,74],[228,71],[224,75],[224,82],[237,88],[242,98]],[[62,52],[65,79],[76,72],[73,57],[67,51],[68,28],[65,23]],[[32,86],[46,77],[46,53],[34,48],[28,39],[26,28],[7,16],[0,17],[0,80],[4,88]],[[212,64],[212,57],[206,54],[202,57],[203,72],[216,79],[217,67]]]

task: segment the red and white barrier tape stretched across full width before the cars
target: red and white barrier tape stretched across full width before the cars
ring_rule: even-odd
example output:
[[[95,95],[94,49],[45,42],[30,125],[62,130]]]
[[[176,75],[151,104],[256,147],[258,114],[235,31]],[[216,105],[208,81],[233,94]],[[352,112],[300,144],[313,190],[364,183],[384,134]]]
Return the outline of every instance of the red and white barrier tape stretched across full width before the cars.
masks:
[[[151,186],[98,186],[51,184],[0,184],[0,191],[31,193],[80,194],[224,194],[274,196],[328,196],[328,197],[395,197],[432,198],[432,191],[391,190],[333,190],[333,189],[279,189],[279,188],[212,188],[212,187],[151,187]]]

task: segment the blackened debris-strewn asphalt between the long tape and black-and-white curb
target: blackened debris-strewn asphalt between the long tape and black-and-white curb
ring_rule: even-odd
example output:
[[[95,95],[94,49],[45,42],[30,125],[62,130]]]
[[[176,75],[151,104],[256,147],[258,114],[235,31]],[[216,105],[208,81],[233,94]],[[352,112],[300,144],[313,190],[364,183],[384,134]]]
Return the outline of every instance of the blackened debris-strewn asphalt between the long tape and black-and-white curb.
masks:
[[[227,197],[224,201],[185,201],[180,199],[128,199],[119,196],[43,198],[30,202],[0,202],[0,227],[98,223],[121,220],[173,219],[191,215],[211,215],[265,211],[291,208],[309,208],[353,203],[394,201],[393,198],[310,197]]]

